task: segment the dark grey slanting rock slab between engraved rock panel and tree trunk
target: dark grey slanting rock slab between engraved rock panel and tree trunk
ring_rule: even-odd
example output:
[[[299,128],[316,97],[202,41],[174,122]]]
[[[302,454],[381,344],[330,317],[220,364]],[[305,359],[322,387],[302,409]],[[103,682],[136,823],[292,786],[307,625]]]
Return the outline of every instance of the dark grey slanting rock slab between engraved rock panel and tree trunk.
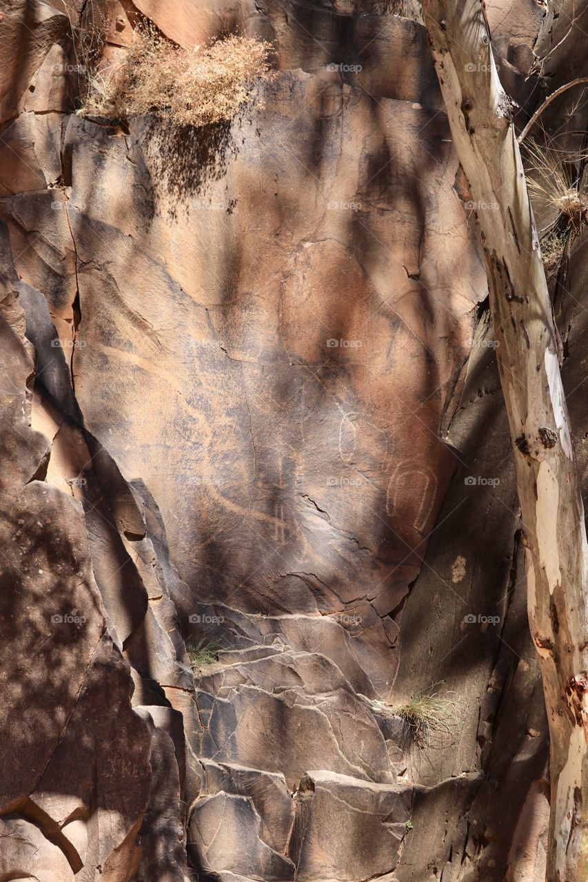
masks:
[[[532,782],[546,773],[548,732],[494,348],[474,349],[449,437],[467,467],[456,472],[425,567],[404,606],[395,693],[402,702],[438,683],[441,694],[456,702],[460,725],[450,749],[433,744],[405,753],[411,777],[433,787],[419,801],[415,825],[422,829],[418,824],[434,811],[439,782],[462,776],[453,787],[456,816],[496,831],[491,841],[480,842],[478,861],[484,878],[501,882]],[[419,871],[425,857],[415,847],[409,840],[402,865]],[[426,860],[442,865],[450,851],[466,847],[457,827],[447,841],[432,843]]]

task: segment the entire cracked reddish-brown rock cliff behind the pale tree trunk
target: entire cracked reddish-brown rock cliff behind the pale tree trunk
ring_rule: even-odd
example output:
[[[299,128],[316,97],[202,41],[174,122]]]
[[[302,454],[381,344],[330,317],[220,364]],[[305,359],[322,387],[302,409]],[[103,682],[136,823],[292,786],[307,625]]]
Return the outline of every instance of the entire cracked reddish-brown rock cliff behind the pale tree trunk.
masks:
[[[536,882],[509,434],[418,15],[96,4],[108,51],[139,12],[275,41],[177,131],[73,112],[84,6],[0,0],[1,877]],[[487,6],[522,103],[540,11]]]

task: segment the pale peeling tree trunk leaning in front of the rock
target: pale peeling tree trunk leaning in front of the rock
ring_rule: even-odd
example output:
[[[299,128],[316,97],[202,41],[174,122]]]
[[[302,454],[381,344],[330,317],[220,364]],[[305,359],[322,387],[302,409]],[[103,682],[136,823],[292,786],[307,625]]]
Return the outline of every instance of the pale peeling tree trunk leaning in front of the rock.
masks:
[[[424,0],[456,153],[479,204],[551,740],[548,882],[588,880],[588,547],[539,238],[479,0]],[[497,208],[489,206],[497,206]]]

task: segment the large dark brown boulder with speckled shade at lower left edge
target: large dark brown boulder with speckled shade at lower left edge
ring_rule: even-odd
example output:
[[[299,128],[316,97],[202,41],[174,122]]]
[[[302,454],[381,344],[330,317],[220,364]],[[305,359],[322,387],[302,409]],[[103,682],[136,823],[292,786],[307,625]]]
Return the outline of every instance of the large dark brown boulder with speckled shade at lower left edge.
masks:
[[[122,878],[139,857],[149,736],[105,633],[82,506],[42,480],[50,447],[30,428],[34,363],[3,233],[0,811],[12,831],[3,875],[57,880],[84,868]]]

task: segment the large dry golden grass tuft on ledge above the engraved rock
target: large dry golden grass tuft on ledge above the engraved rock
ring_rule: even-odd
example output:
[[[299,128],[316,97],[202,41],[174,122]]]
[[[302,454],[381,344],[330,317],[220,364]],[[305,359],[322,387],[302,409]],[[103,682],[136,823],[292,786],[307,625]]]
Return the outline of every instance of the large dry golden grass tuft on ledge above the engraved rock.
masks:
[[[178,126],[230,120],[270,77],[272,47],[231,35],[182,49],[151,22],[140,23],[120,64],[98,65],[87,77],[83,115],[127,119],[154,113]]]

